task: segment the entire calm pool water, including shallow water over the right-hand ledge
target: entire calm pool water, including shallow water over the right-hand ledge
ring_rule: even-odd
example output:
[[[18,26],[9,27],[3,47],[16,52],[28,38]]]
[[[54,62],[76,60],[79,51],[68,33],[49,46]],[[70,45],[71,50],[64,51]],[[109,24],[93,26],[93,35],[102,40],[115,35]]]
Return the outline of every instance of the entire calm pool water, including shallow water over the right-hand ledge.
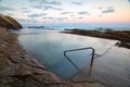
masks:
[[[30,32],[28,32],[30,33]],[[116,40],[42,30],[37,34],[21,32],[18,40],[27,52],[38,59],[50,71],[74,82],[90,80],[113,87],[130,86],[130,50],[118,48]],[[68,57],[80,69],[77,70],[65,57],[64,51],[93,47],[95,59],[90,70],[91,50],[69,52]]]

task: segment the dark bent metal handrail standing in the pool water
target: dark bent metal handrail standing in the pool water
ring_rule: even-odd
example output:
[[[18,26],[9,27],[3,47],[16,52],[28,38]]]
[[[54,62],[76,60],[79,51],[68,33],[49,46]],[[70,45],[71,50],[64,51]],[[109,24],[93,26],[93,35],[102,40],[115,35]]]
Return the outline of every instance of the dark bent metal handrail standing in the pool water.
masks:
[[[92,50],[92,58],[91,58],[91,64],[90,66],[92,67],[92,64],[93,64],[93,59],[94,59],[94,49],[92,47],[88,47],[88,48],[79,48],[79,49],[73,49],[73,50],[66,50],[64,51],[64,55],[67,58],[67,60],[77,69],[79,70],[79,67],[67,57],[67,52],[70,52],[70,51],[77,51],[77,50],[86,50],[86,49],[91,49]]]

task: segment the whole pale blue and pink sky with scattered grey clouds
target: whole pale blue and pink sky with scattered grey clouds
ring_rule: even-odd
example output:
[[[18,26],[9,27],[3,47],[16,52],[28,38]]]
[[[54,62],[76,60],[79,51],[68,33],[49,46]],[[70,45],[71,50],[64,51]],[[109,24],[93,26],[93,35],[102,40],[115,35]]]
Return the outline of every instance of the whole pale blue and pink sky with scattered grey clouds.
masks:
[[[115,24],[130,27],[130,0],[0,0],[0,14],[23,25]]]

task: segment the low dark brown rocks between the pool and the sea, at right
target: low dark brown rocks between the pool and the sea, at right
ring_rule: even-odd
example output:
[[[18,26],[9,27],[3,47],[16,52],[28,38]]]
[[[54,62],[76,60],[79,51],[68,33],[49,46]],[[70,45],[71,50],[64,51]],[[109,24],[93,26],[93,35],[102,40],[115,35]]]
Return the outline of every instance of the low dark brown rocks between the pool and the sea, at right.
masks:
[[[61,32],[61,33],[106,38],[106,39],[115,39],[120,41],[116,44],[116,46],[130,49],[130,30],[114,30],[109,28],[86,30],[86,29],[74,28],[74,29],[65,29],[64,32]]]

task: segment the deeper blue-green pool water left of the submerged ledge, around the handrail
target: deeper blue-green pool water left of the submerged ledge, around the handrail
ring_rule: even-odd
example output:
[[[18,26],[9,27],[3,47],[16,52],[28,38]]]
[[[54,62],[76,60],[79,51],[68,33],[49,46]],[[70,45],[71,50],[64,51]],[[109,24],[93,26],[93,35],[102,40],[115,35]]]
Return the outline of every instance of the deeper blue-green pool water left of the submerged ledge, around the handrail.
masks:
[[[103,54],[117,42],[116,40],[63,34],[57,33],[57,30],[47,29],[26,28],[17,33],[21,34],[18,36],[20,42],[30,55],[37,58],[48,69],[56,72],[64,78],[70,78],[78,73],[78,70],[64,57],[65,50],[93,47],[96,54]],[[91,53],[91,50],[81,50],[69,52],[68,57],[79,69],[82,69],[89,64]],[[66,70],[68,70],[67,73],[64,73]]]

